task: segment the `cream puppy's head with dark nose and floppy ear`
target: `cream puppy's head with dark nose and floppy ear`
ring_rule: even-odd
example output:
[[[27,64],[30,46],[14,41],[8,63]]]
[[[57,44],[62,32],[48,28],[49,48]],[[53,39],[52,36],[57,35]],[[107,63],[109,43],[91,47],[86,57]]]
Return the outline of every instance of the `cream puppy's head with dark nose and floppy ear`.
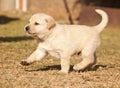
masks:
[[[25,31],[29,36],[42,39],[50,34],[50,30],[52,30],[55,25],[55,20],[51,16],[43,13],[35,14],[25,26]]]

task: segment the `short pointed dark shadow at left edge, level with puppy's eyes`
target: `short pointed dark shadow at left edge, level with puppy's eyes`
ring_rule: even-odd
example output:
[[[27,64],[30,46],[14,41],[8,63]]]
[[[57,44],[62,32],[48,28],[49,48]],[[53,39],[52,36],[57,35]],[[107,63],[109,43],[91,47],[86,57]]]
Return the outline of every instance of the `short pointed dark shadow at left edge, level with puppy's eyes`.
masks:
[[[0,16],[0,24],[7,24],[11,21],[16,21],[16,20],[20,20],[19,18],[11,18],[11,17],[7,17],[4,15]]]

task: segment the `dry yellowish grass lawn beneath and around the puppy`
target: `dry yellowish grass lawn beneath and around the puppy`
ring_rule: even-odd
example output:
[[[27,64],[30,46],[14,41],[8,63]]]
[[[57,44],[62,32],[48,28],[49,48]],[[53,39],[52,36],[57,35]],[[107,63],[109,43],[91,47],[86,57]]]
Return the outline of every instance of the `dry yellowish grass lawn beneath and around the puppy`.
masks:
[[[71,71],[68,75],[59,75],[59,60],[50,56],[28,67],[20,65],[37,43],[26,37],[23,31],[28,14],[8,16],[18,19],[0,24],[0,88],[120,88],[118,28],[109,27],[101,33],[102,44],[97,50],[97,65],[93,71]],[[73,56],[71,64],[80,60],[80,56]]]

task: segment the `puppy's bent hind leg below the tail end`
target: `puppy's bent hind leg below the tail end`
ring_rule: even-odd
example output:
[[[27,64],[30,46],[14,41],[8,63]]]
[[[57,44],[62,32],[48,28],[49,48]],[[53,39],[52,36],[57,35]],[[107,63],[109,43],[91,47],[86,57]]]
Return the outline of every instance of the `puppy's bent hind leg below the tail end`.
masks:
[[[87,46],[82,50],[82,58],[83,60],[74,65],[73,69],[76,71],[83,71],[88,67],[91,67],[93,64],[96,63],[96,55],[95,55],[94,46]]]

